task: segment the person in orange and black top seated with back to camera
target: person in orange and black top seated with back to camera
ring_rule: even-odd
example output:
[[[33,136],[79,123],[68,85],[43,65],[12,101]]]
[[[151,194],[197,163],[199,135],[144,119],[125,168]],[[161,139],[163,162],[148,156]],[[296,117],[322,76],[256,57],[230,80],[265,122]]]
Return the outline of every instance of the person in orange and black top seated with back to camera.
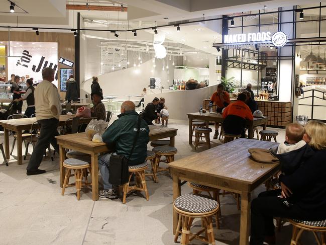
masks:
[[[246,119],[253,120],[253,114],[245,101],[247,96],[244,93],[238,95],[236,102],[227,106],[223,112],[223,129],[227,134],[245,135]]]

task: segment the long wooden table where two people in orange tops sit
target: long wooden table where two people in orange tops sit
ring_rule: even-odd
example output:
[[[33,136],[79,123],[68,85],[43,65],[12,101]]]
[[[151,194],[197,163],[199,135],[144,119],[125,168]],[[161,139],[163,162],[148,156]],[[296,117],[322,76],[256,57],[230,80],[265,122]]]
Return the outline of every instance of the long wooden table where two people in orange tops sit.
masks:
[[[219,122],[222,123],[224,118],[221,113],[216,112],[206,112],[200,115],[199,112],[188,113],[189,118],[189,144],[192,144],[192,120],[199,119],[205,121],[208,125],[208,122]],[[246,126],[248,127],[248,138],[254,138],[254,127],[263,125],[263,129],[266,129],[268,117],[254,117],[254,120],[246,120]]]

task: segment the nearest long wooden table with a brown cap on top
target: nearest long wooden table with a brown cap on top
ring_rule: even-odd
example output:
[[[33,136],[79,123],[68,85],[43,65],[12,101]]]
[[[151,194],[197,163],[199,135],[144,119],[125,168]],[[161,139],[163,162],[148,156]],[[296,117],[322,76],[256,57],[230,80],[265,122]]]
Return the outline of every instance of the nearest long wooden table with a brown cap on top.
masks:
[[[173,201],[181,195],[180,180],[191,181],[241,194],[240,244],[248,244],[250,222],[250,194],[276,174],[279,164],[254,161],[248,149],[269,149],[278,143],[254,139],[237,139],[169,164],[173,179]],[[173,233],[177,213],[173,211]]]

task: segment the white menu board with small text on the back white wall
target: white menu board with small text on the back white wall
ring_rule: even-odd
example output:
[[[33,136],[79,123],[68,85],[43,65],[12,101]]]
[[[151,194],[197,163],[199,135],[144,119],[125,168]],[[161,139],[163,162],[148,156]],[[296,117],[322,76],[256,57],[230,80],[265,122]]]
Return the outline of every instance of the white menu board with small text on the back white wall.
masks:
[[[101,42],[101,45],[106,44],[106,42]],[[115,70],[121,70],[127,68],[127,51],[123,51],[119,48],[108,48],[107,46],[101,46],[101,63],[100,72],[109,73]],[[114,67],[114,69],[113,69]]]

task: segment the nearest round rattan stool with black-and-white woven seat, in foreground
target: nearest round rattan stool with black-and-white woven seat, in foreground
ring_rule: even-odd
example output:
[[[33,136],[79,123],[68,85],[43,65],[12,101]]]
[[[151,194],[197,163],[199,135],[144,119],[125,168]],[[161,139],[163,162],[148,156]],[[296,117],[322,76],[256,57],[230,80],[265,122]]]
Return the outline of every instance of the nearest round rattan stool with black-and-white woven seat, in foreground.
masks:
[[[178,236],[181,234],[181,245],[186,245],[193,239],[199,239],[214,245],[212,216],[219,209],[219,203],[209,196],[185,194],[176,198],[173,203],[173,210],[178,213],[179,220],[174,242],[177,242]],[[202,229],[196,233],[191,233],[190,227],[195,218],[201,219]],[[205,236],[200,235],[202,232],[205,232]]]

